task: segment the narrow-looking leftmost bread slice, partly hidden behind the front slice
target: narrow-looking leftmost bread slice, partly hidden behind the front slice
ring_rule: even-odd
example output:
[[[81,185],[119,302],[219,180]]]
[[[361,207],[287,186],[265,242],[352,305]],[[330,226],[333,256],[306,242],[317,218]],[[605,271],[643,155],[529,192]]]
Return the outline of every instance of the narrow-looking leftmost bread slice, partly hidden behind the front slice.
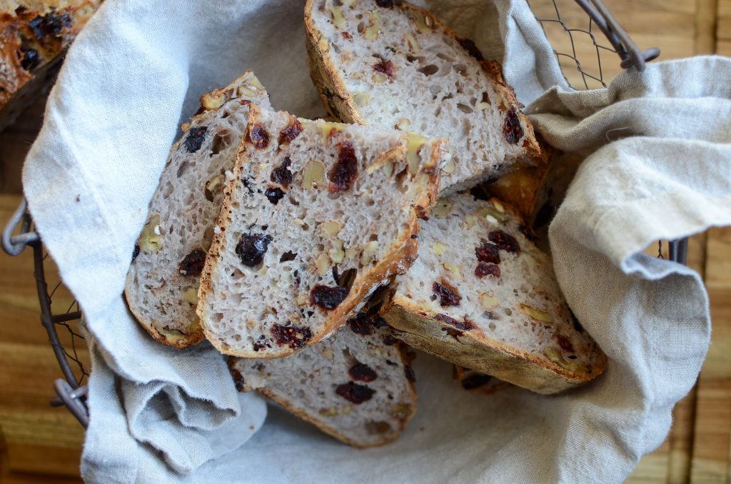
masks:
[[[178,348],[203,339],[197,291],[223,186],[232,176],[249,103],[269,104],[250,70],[200,101],[199,114],[183,124],[183,137],[170,150],[124,291],[132,314],[154,339]]]

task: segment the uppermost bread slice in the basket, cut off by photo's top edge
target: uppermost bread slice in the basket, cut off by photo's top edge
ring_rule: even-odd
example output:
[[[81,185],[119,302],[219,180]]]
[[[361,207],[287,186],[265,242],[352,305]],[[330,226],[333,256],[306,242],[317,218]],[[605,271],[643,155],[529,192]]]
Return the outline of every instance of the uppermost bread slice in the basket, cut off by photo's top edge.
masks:
[[[305,25],[312,79],[334,116],[449,138],[442,192],[543,162],[500,65],[430,12],[405,1],[308,0]]]

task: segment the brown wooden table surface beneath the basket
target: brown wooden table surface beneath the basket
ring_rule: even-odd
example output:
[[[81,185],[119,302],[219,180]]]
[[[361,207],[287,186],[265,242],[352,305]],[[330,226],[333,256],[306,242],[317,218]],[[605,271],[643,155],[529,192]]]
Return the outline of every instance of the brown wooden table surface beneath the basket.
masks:
[[[557,3],[567,26],[586,29],[586,16],[570,0]],[[661,58],[731,55],[731,0],[606,3],[640,48],[662,48]],[[550,0],[531,0],[531,7],[541,17],[555,16]],[[556,50],[570,52],[569,38],[560,25],[547,31]],[[595,50],[586,39],[575,41],[584,69],[596,75]],[[567,77],[581,86],[583,80],[573,63],[564,58]],[[616,75],[617,64],[612,56],[602,54],[605,79]],[[588,83],[597,86],[592,80]],[[0,133],[3,224],[20,200],[20,167],[39,129],[43,105],[39,100]],[[711,298],[711,349],[696,387],[675,407],[670,435],[640,461],[629,478],[632,483],[731,483],[731,228],[694,237],[689,265],[704,276]],[[49,279],[58,278],[53,273]],[[68,292],[59,291],[54,300],[70,304]],[[39,323],[29,251],[20,257],[0,254],[0,314],[4,319],[0,324],[0,482],[79,482],[83,431],[65,409],[48,405],[52,382],[60,371]],[[86,358],[83,350],[80,358]]]

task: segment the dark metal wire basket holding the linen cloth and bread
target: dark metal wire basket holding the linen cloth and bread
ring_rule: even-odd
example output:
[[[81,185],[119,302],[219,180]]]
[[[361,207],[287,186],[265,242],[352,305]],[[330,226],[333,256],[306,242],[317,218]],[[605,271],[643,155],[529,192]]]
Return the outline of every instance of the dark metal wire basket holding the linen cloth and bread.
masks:
[[[561,35],[567,36],[571,46],[570,52],[556,50],[553,52],[561,64],[567,81],[575,88],[607,86],[605,69],[602,69],[602,56],[619,56],[622,69],[640,71],[644,69],[645,62],[659,56],[660,51],[657,48],[648,50],[637,48],[600,0],[528,1],[554,47],[556,43],[565,42],[566,37],[561,42],[556,42]],[[599,42],[597,34],[601,34],[608,45]],[[604,62],[606,64],[606,60]],[[56,396],[50,400],[50,404],[54,407],[62,405],[67,407],[86,428],[88,389],[85,381],[88,372],[77,352],[77,348],[86,346],[79,329],[82,314],[75,301],[65,310],[58,308],[58,304],[53,305],[53,296],[61,282],[49,292],[45,276],[48,254],[44,253],[43,243],[34,230],[28,205],[26,200],[23,200],[2,232],[2,247],[7,254],[18,255],[28,246],[33,251],[41,324],[48,332],[50,345],[63,375],[63,378],[58,378],[54,382]],[[669,241],[667,258],[684,264],[687,250],[687,238]],[[659,257],[663,257],[662,241],[659,242]]]

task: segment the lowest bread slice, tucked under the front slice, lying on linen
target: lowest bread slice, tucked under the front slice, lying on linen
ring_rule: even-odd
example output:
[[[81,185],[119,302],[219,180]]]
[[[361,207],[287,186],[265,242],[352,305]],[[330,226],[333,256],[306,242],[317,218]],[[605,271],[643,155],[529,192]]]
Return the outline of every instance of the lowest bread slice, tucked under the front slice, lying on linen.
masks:
[[[405,345],[376,318],[359,313],[292,358],[231,357],[236,385],[259,390],[346,444],[387,444],[416,412],[417,398]]]

